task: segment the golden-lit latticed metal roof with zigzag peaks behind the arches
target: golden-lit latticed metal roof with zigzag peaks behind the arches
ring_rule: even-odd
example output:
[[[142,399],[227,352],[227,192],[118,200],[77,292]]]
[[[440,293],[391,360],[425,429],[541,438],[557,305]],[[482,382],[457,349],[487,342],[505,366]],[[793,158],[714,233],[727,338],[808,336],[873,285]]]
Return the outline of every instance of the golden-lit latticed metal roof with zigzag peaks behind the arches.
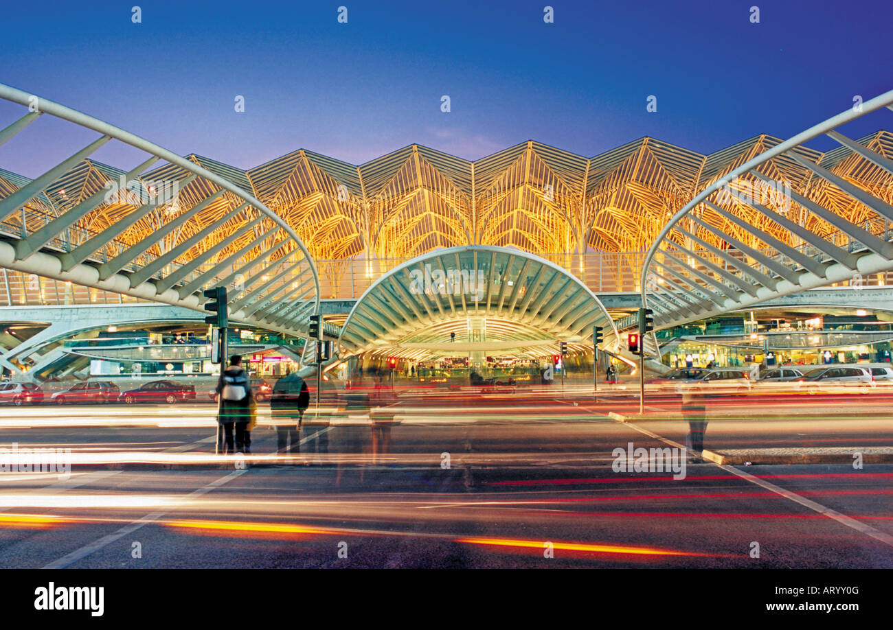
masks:
[[[857,142],[881,155],[893,154],[889,131],[878,131]],[[538,254],[634,252],[647,249],[668,216],[697,191],[779,143],[777,137],[759,135],[702,154],[643,137],[585,158],[528,141],[475,162],[409,145],[359,166],[300,149],[250,170],[194,154],[187,159],[256,195],[295,229],[319,260],[407,258],[457,245],[513,246]],[[845,146],[828,153],[798,147],[797,153],[876,191],[889,190],[893,181],[889,173],[854,158]],[[760,170],[773,180],[789,182],[806,198],[846,206],[842,211],[851,212],[854,220],[864,213],[858,203],[836,195],[787,154],[765,162]],[[33,204],[32,210],[38,214],[52,215],[59,207],[83,201],[123,172],[84,160],[29,205]],[[137,181],[185,175],[185,170],[167,164],[146,171]],[[14,191],[28,181],[0,170],[0,191]],[[60,191],[65,192],[64,197]],[[179,207],[186,210],[213,192],[205,180],[196,180],[181,190]],[[234,203],[233,195],[223,195],[147,253],[170,251],[219,219]],[[75,224],[73,244],[134,210],[135,206],[126,203],[100,204]],[[122,228],[115,244],[138,243],[164,220],[156,214],[149,213]],[[732,236],[752,238],[711,211],[705,211],[702,218],[730,230]],[[788,230],[772,225],[759,212],[752,212],[747,220],[783,241],[791,239]],[[21,230],[17,221],[21,223],[21,217],[9,217],[8,228]],[[225,224],[209,238],[220,241],[235,225]],[[708,241],[714,238],[701,232]],[[252,234],[242,236],[219,255],[238,252],[252,238]],[[115,244],[110,245],[110,255],[115,253]]]

